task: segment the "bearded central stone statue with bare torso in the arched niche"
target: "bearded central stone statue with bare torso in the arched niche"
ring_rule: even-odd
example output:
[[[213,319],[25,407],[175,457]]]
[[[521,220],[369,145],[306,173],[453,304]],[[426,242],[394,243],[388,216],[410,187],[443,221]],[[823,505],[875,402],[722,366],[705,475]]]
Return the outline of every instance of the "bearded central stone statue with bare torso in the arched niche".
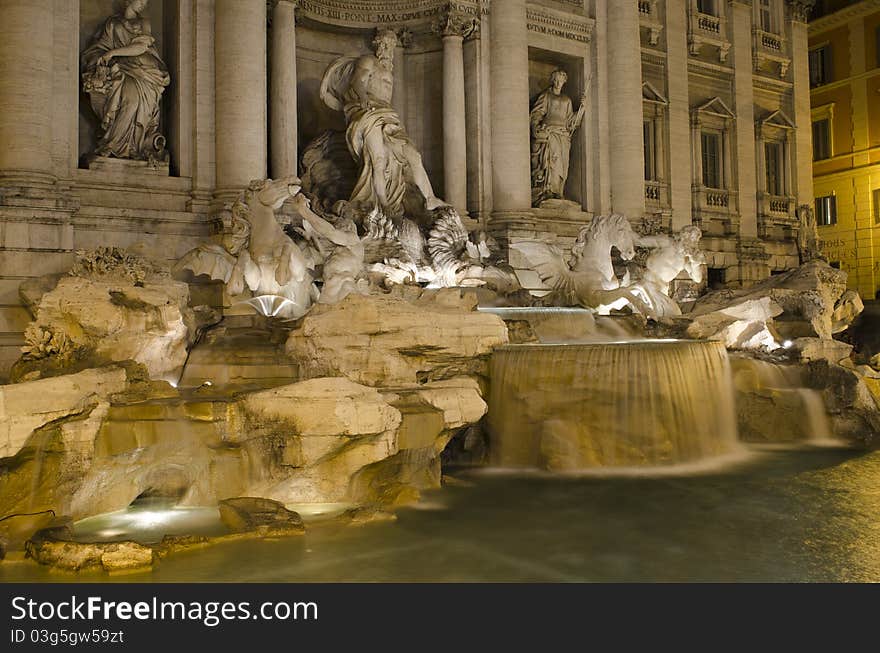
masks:
[[[345,113],[348,149],[361,166],[350,201],[392,218],[404,214],[410,185],[424,198],[424,210],[445,205],[434,194],[422,157],[391,106],[396,46],[393,30],[378,30],[375,54],[337,59],[324,73],[320,91],[328,107]]]

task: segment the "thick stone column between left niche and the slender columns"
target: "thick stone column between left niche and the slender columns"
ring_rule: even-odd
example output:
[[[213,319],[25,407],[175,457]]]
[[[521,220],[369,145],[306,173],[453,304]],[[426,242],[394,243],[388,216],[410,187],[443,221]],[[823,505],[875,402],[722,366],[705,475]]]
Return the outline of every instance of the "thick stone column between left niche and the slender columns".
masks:
[[[217,0],[214,23],[219,201],[266,176],[266,0]]]

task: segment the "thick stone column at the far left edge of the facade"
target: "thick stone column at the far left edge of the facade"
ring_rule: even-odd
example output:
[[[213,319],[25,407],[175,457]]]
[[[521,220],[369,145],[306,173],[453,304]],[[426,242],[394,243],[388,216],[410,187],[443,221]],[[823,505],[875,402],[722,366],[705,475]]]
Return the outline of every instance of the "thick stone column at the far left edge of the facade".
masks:
[[[0,179],[54,183],[52,0],[0,4]]]

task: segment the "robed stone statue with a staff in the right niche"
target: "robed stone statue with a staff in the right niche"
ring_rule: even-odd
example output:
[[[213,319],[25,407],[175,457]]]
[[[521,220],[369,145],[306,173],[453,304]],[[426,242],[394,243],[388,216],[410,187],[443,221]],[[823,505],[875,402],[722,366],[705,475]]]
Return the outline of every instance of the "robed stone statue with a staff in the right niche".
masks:
[[[538,95],[530,116],[532,131],[532,205],[544,200],[564,199],[571,152],[571,137],[584,119],[587,90],[577,112],[562,87],[568,73],[562,69],[550,74],[550,86]]]

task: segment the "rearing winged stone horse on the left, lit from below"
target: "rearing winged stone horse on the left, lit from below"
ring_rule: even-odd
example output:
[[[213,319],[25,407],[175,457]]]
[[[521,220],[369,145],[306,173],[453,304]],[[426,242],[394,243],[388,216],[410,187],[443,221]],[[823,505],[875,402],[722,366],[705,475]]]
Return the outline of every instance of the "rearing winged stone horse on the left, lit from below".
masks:
[[[233,296],[246,286],[255,298],[280,297],[281,304],[269,313],[273,316],[304,315],[317,297],[309,261],[275,218],[281,205],[299,193],[299,184],[297,177],[251,182],[232,207],[232,233],[190,251],[177,269],[222,281]]]

